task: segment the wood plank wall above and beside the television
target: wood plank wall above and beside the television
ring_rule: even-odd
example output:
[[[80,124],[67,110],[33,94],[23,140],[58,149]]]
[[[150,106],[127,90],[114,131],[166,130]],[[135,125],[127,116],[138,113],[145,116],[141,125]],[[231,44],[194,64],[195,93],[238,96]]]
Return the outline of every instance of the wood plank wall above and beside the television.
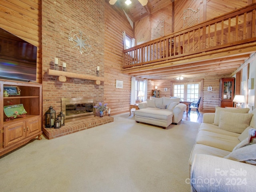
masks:
[[[36,82],[42,83],[41,0],[1,0],[0,28],[37,46]]]

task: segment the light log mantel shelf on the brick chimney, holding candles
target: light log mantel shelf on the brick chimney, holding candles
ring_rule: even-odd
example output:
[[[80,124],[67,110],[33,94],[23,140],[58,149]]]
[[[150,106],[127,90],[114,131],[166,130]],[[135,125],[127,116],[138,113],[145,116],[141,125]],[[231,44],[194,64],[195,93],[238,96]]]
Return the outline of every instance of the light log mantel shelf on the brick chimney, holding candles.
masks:
[[[96,81],[97,85],[99,85],[101,81],[104,81],[104,78],[98,77],[98,76],[84,75],[84,74],[72,73],[72,72],[66,72],[66,71],[58,71],[58,70],[53,70],[53,69],[48,69],[47,74],[59,76],[60,82],[66,82],[66,80],[67,80],[66,77],[94,80],[94,81]]]

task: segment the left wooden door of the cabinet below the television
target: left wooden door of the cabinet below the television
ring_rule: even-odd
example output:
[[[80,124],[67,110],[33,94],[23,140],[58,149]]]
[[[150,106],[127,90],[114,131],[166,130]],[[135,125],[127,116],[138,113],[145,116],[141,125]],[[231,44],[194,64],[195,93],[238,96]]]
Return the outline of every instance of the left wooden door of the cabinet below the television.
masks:
[[[26,122],[15,122],[4,126],[4,147],[26,138]]]

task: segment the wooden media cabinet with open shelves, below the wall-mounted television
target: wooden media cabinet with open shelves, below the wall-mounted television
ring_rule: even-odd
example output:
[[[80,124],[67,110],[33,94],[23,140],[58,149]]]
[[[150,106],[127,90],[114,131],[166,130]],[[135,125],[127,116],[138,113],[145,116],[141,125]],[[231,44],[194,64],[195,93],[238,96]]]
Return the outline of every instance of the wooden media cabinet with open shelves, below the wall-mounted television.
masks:
[[[18,86],[20,94],[4,97],[4,87]],[[42,135],[42,84],[0,80],[0,156],[30,140],[41,140]],[[25,116],[9,118],[4,106],[23,104]]]

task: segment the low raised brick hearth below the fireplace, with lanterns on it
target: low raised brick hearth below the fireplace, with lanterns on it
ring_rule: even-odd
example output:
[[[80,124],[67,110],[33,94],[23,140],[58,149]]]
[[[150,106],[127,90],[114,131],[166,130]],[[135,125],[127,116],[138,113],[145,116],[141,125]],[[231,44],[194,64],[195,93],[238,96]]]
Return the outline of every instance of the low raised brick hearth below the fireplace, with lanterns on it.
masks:
[[[78,131],[82,131],[85,129],[89,129],[92,127],[100,126],[103,124],[107,124],[113,122],[114,118],[111,116],[103,116],[103,117],[92,117],[85,118],[83,120],[77,120],[73,122],[65,122],[65,126],[62,126],[59,129],[54,128],[42,128],[42,131],[46,138],[53,139],[57,137],[61,137],[67,134],[75,133]]]

